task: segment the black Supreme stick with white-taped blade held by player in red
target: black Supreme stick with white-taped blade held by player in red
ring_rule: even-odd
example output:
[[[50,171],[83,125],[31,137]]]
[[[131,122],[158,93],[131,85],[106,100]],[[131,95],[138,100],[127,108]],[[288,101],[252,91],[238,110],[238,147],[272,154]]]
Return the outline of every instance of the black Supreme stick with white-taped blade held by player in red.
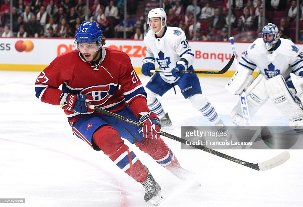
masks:
[[[137,122],[137,121],[134,121],[132,119],[126,118],[124,116],[115,114],[113,112],[106,111],[106,110],[104,110],[102,108],[99,108],[97,106],[94,106],[94,105],[89,105],[89,108],[91,108],[91,109],[93,109],[93,110],[95,110],[97,112],[101,112],[103,114],[106,114],[108,116],[111,116],[111,117],[120,119],[122,121],[128,122],[128,123],[130,123],[132,125],[135,125],[135,126],[138,126],[138,127],[144,126],[140,122]],[[170,139],[173,139],[175,141],[181,142],[183,144],[190,145],[190,146],[195,147],[195,148],[197,148],[199,150],[203,150],[203,151],[208,152],[210,154],[217,155],[218,157],[222,157],[222,158],[224,158],[226,160],[230,160],[230,161],[233,161],[233,162],[238,163],[240,165],[244,165],[246,167],[252,168],[254,170],[259,170],[259,171],[269,170],[271,168],[277,167],[277,166],[281,165],[282,163],[285,163],[289,159],[289,157],[290,157],[289,152],[288,151],[284,151],[281,154],[277,155],[276,157],[271,158],[270,160],[254,164],[254,163],[249,163],[249,162],[246,162],[246,161],[243,161],[243,160],[239,160],[239,159],[237,159],[235,157],[231,157],[229,155],[223,154],[223,153],[218,152],[216,150],[212,150],[210,148],[204,147],[202,145],[190,144],[190,143],[188,143],[187,140],[182,139],[180,137],[176,137],[176,136],[171,135],[171,134],[168,134],[168,133],[166,133],[164,131],[161,132],[161,135],[163,135],[165,137],[168,137]]]

